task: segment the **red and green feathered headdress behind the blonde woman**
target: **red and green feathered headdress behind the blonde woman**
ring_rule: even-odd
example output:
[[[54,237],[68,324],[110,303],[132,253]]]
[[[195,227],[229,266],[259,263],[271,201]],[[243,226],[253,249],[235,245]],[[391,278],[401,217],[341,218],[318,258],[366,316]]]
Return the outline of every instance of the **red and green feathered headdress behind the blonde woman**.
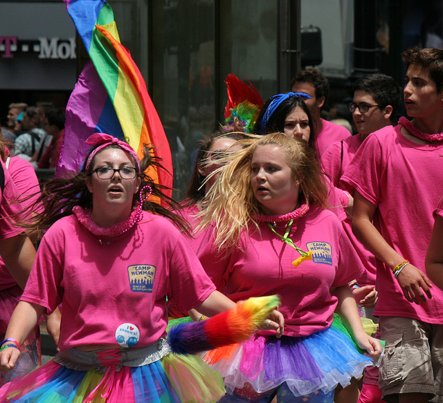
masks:
[[[249,79],[250,86],[230,74],[226,77],[225,83],[228,86],[228,103],[224,112],[224,129],[250,133],[264,105],[262,97]]]

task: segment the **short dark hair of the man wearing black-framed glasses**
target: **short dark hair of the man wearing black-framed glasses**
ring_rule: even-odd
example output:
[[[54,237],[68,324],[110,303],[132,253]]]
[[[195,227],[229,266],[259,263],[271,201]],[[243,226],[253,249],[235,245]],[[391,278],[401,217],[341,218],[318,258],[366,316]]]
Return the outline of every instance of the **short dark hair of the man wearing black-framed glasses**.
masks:
[[[352,89],[370,94],[380,109],[392,106],[392,118],[399,115],[403,91],[395,79],[386,74],[372,73],[356,79]]]

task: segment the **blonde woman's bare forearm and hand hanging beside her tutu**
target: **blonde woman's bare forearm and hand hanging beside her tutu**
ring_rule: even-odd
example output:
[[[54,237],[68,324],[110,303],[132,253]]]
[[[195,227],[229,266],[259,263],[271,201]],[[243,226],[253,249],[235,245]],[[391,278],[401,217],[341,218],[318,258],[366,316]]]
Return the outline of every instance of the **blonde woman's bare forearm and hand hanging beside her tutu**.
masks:
[[[331,293],[338,298],[336,312],[340,315],[343,325],[350,332],[356,344],[368,351],[366,355],[377,362],[381,355],[381,344],[367,335],[363,329],[352,291],[347,285],[343,285],[331,290]]]

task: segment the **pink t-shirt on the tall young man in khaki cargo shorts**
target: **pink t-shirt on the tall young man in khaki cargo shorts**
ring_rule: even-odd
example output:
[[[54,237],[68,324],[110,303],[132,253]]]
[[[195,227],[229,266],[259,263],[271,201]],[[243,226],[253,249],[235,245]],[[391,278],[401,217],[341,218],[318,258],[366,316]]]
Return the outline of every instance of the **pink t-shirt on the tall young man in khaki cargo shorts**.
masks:
[[[433,210],[443,194],[443,142],[416,144],[400,129],[386,126],[369,135],[341,181],[377,206],[373,222],[381,236],[425,272]],[[443,291],[437,287],[426,303],[410,303],[392,270],[377,260],[377,290],[375,315],[443,324]]]

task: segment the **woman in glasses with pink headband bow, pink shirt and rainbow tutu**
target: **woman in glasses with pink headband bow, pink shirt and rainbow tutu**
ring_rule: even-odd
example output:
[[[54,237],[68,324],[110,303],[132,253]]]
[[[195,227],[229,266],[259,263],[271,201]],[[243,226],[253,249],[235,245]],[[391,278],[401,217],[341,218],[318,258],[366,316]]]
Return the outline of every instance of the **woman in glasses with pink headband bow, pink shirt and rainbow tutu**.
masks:
[[[49,229],[1,343],[0,371],[15,366],[28,332],[61,304],[60,352],[3,386],[0,402],[217,402],[219,375],[195,355],[170,353],[166,299],[208,316],[235,304],[180,234],[183,219],[150,201],[174,207],[144,174],[156,163],[149,150],[140,162],[110,135],[87,144],[80,173],[47,182],[39,198],[45,208],[33,227]],[[266,328],[280,331],[281,315],[271,319]]]

